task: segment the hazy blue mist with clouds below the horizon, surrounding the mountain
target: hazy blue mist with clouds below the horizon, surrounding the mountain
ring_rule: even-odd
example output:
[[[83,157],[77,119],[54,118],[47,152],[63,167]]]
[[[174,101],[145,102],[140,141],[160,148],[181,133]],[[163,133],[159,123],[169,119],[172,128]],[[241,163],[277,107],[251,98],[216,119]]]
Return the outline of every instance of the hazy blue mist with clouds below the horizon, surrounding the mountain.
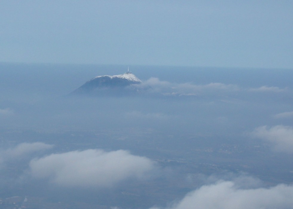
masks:
[[[260,194],[248,208],[292,205],[290,70],[137,65],[138,95],[74,96],[127,66],[0,66],[1,201],[242,208]]]

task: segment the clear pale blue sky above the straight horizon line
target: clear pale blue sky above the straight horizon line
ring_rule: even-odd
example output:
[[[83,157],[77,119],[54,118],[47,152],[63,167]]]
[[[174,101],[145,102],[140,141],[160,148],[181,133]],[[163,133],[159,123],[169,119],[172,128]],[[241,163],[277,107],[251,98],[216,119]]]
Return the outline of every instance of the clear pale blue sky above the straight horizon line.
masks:
[[[1,1],[0,62],[293,68],[292,1]]]

